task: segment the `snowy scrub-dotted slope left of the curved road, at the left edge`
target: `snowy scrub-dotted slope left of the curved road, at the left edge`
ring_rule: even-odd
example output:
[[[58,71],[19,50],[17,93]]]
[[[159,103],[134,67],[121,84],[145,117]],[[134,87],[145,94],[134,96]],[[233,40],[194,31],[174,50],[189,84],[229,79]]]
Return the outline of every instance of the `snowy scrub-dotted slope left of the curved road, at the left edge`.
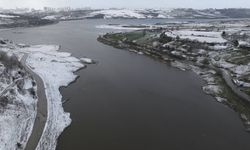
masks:
[[[4,69],[1,65],[0,150],[23,149],[36,118],[37,97],[30,93],[31,89],[36,91],[36,85],[28,74],[18,73],[24,70],[16,68],[6,73]]]

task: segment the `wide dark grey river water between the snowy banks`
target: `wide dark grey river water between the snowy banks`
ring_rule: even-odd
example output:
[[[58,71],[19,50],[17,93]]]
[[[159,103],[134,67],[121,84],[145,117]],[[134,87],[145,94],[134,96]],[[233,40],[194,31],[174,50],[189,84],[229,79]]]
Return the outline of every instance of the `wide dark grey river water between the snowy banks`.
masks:
[[[205,95],[194,73],[96,41],[111,30],[95,25],[153,21],[83,20],[0,32],[15,42],[60,44],[76,57],[99,61],[61,90],[73,122],[57,150],[250,149],[238,114]]]

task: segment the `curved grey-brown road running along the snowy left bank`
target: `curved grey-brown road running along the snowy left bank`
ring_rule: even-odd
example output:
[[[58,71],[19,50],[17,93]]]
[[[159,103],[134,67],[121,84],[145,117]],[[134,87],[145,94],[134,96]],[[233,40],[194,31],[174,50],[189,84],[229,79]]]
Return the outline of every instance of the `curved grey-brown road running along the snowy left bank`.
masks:
[[[45,128],[47,121],[47,114],[48,114],[47,97],[45,93],[43,80],[26,65],[27,57],[28,54],[25,54],[21,59],[21,63],[24,66],[24,68],[33,76],[33,78],[37,83],[38,101],[37,101],[37,115],[35,123],[25,150],[35,150],[43,134],[43,130]]]

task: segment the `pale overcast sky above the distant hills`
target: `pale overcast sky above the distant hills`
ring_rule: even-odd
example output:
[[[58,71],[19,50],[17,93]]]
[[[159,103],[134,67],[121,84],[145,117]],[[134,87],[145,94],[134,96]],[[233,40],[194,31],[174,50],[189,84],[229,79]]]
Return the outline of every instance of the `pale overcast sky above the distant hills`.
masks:
[[[250,0],[0,0],[2,8],[249,8]]]

